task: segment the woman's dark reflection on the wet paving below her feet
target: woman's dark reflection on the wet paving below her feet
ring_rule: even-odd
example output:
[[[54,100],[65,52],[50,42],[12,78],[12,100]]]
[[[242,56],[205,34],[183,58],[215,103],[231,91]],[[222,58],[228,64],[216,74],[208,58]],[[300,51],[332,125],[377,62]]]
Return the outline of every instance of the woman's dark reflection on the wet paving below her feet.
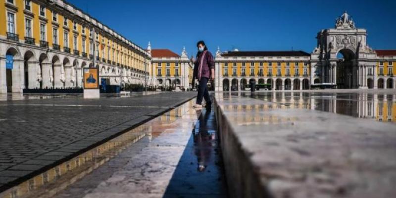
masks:
[[[197,111],[199,115],[199,128],[193,131],[194,152],[197,155],[198,171],[202,172],[211,160],[212,141],[215,139],[214,133],[211,134],[207,130],[207,121],[210,116],[210,110],[206,110],[204,114],[201,110]],[[198,130],[198,131],[197,131]]]

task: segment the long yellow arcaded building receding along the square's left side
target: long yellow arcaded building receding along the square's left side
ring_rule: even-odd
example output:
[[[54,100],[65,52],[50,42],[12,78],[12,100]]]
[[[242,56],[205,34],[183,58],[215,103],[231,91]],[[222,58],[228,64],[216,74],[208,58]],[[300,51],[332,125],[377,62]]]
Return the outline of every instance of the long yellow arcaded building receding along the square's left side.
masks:
[[[63,0],[0,0],[0,13],[0,93],[81,88],[85,67],[111,85],[152,82],[145,49]]]

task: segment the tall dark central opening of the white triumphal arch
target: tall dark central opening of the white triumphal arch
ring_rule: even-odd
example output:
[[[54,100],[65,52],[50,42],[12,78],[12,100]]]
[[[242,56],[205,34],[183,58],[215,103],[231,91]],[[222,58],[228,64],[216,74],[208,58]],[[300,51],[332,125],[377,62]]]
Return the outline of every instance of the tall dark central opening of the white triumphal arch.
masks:
[[[357,68],[354,67],[355,53],[351,49],[341,49],[337,53],[337,88],[355,89],[357,84]]]

